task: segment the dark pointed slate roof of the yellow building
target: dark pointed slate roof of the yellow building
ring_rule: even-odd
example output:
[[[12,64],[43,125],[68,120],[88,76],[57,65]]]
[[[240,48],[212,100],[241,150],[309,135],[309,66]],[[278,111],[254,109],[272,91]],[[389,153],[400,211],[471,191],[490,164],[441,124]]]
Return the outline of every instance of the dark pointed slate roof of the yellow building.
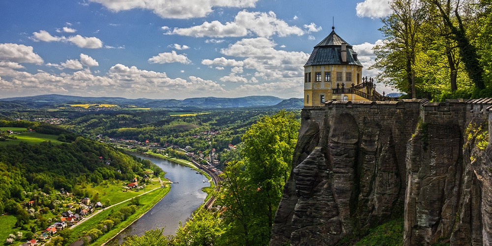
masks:
[[[342,43],[347,44],[347,62],[341,61]],[[357,53],[352,49],[352,45],[348,44],[333,30],[323,41],[314,46],[311,56],[304,66],[342,64],[363,66],[359,60],[354,59],[354,55]]]

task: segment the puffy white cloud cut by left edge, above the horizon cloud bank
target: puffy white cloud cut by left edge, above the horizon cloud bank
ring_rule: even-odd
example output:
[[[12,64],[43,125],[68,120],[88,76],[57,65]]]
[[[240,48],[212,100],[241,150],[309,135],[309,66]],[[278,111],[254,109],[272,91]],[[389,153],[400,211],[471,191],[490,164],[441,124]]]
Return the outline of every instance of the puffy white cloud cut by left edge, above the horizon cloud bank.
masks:
[[[33,52],[32,46],[23,44],[0,44],[0,61],[42,64],[43,59]]]

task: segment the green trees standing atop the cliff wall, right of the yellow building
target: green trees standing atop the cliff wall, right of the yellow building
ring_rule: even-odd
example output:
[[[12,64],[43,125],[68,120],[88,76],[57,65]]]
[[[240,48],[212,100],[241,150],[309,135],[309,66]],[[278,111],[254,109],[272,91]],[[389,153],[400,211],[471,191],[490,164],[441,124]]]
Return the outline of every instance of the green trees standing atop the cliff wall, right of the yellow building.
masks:
[[[491,0],[392,0],[377,79],[409,98],[492,97]]]

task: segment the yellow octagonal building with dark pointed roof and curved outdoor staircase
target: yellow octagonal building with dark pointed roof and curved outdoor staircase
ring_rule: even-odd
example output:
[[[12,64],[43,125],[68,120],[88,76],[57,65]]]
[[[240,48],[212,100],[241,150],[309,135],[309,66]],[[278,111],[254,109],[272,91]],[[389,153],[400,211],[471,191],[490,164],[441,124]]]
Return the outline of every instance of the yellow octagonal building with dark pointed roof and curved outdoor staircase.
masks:
[[[352,45],[332,27],[332,32],[314,46],[304,65],[304,106],[323,106],[329,100],[384,99],[374,90],[373,80],[362,77],[362,68]]]

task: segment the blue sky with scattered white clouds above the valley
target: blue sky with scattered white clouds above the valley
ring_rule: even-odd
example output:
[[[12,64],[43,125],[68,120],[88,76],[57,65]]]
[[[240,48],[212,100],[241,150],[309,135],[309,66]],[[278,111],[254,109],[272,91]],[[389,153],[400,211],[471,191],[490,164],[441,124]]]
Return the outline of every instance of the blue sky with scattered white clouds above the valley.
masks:
[[[375,76],[390,13],[387,0],[1,0],[0,98],[302,98],[333,25]]]

